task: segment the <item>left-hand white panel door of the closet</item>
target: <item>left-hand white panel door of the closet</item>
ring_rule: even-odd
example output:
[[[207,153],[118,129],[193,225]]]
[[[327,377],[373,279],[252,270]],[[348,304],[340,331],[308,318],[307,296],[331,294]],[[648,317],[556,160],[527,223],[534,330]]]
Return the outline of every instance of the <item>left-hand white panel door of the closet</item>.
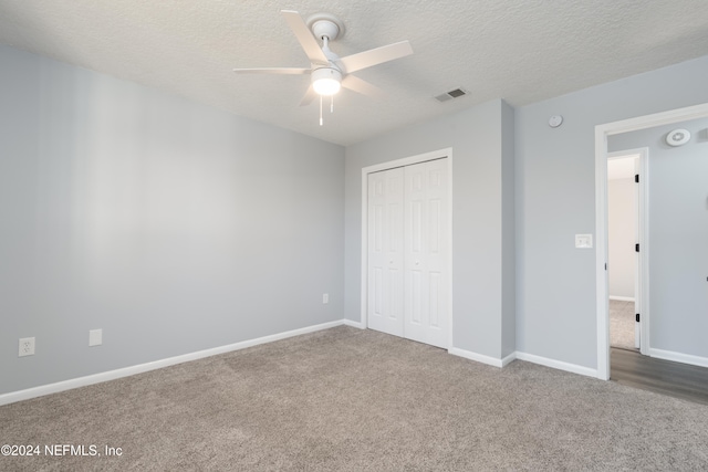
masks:
[[[404,336],[404,169],[368,175],[368,327]]]

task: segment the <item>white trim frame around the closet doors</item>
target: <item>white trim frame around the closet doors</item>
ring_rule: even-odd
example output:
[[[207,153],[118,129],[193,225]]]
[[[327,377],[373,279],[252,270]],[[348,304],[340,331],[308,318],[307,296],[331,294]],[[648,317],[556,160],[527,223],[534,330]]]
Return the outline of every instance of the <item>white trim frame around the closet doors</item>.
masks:
[[[412,166],[414,164],[425,162],[427,160],[434,159],[448,159],[448,208],[449,216],[448,218],[448,270],[449,273],[449,283],[447,286],[447,306],[449,311],[448,318],[448,342],[447,348],[450,349],[452,347],[452,148],[448,147],[445,149],[434,150],[430,153],[424,153],[416,156],[404,157],[402,159],[389,160],[387,162],[375,164],[373,166],[362,168],[362,254],[361,254],[361,263],[362,263],[362,281],[361,281],[361,327],[368,327],[368,316],[367,316],[367,300],[368,300],[368,175],[372,172],[378,172],[382,170],[388,170],[396,167]]]

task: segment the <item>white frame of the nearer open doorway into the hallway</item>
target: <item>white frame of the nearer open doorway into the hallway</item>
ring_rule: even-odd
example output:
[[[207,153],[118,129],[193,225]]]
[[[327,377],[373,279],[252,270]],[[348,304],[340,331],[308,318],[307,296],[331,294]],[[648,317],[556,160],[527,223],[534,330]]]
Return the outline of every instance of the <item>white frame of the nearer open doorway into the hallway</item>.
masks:
[[[597,378],[610,379],[607,303],[607,137],[654,126],[708,117],[708,103],[595,126],[595,289],[597,306]],[[646,268],[648,277],[648,268]]]

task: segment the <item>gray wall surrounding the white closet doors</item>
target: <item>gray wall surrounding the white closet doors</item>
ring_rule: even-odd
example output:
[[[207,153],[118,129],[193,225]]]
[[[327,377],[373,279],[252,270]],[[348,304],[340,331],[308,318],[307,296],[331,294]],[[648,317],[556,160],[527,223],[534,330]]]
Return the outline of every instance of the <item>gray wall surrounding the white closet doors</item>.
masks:
[[[361,319],[362,168],[451,147],[452,346],[497,359],[514,350],[511,136],[513,111],[492,101],[346,149],[348,319]]]

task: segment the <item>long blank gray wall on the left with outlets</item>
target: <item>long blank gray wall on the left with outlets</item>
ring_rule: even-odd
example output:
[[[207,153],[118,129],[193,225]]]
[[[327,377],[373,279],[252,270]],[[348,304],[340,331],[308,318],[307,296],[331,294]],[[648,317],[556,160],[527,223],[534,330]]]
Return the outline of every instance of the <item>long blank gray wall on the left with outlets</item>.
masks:
[[[0,71],[0,394],[342,319],[342,147],[10,48]]]

